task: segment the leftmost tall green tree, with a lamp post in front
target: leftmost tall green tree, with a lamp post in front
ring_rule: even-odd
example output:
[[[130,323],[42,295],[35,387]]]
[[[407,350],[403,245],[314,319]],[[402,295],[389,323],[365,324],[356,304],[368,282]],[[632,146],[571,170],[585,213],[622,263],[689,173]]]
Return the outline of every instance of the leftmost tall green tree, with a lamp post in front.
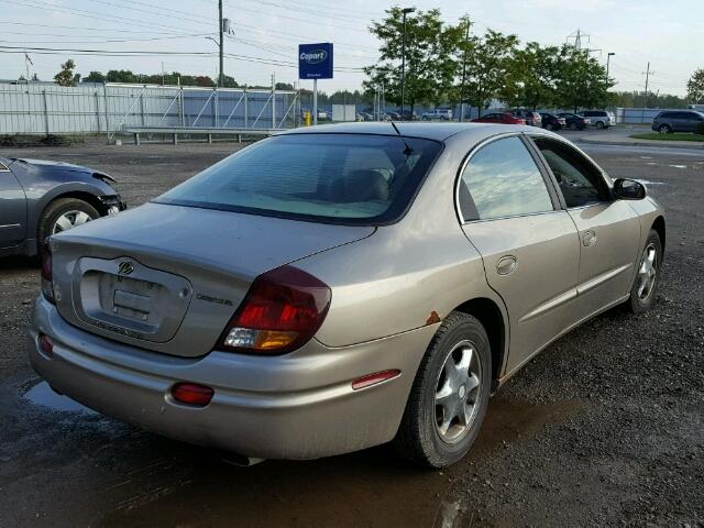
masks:
[[[382,41],[380,59],[367,66],[365,90],[384,89],[387,101],[402,102],[403,12],[398,7],[386,10],[387,16],[374,21],[370,31]],[[418,103],[447,99],[457,73],[458,29],[446,26],[437,9],[417,11],[406,18],[405,101],[411,111]]]

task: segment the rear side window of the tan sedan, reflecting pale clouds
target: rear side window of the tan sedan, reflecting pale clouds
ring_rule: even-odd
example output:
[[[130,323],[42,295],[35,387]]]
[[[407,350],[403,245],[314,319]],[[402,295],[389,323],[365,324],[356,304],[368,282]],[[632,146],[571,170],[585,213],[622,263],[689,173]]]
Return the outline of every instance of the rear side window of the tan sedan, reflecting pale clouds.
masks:
[[[472,156],[462,173],[459,201],[465,221],[553,209],[536,162],[516,136],[494,141]]]

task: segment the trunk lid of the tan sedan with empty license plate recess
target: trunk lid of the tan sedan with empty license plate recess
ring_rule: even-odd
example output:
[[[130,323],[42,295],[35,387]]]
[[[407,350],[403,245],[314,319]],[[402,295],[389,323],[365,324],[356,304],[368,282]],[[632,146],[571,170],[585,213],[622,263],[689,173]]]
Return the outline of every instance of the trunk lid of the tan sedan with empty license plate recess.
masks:
[[[147,204],[52,239],[56,305],[92,333],[199,356],[256,276],[373,232]]]

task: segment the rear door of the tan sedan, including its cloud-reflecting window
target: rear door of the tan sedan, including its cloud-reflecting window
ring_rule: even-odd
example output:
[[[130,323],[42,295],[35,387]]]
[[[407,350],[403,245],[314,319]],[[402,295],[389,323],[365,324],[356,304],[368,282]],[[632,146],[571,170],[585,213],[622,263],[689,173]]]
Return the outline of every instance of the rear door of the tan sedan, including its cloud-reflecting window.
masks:
[[[565,307],[576,296],[576,229],[519,134],[476,148],[458,186],[462,229],[508,310],[512,371],[572,322]]]

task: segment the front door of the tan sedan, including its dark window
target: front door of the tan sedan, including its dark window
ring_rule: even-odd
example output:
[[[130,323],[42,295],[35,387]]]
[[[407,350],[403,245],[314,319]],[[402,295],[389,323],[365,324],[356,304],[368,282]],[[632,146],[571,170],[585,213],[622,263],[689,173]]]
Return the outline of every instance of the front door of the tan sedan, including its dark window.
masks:
[[[580,238],[576,319],[620,300],[630,289],[639,250],[640,220],[625,200],[614,200],[602,170],[566,142],[532,138],[558,184]]]

